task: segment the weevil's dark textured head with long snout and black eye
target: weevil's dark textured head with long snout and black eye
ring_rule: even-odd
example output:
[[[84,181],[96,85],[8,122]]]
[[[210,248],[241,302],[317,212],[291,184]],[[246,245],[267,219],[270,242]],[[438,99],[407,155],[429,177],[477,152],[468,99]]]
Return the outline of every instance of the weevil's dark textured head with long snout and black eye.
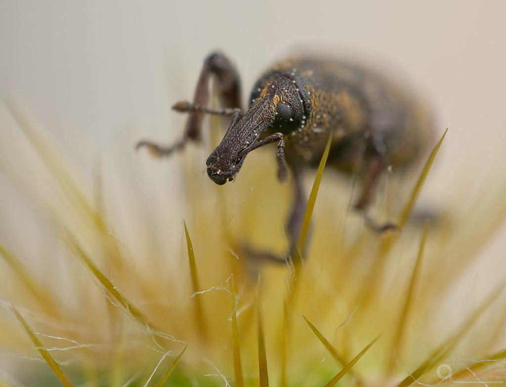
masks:
[[[262,132],[278,121],[296,121],[294,117],[302,117],[303,110],[291,79],[280,74],[265,79],[259,97],[235,124],[230,125],[220,145],[207,158],[209,178],[219,185],[234,180],[248,148],[259,141]]]

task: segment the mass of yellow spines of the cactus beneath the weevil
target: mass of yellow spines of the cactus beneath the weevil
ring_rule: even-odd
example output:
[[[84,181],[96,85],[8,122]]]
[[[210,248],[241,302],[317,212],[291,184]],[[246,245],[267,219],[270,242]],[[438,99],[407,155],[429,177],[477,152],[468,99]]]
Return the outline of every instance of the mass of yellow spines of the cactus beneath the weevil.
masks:
[[[349,210],[350,185],[338,189],[322,175],[325,153],[298,243],[307,254],[276,266],[243,253],[246,245],[286,248],[289,191],[275,182],[265,154],[251,155],[225,188],[189,172],[198,150],[188,149],[178,156],[180,176],[171,177],[183,197],[138,201],[128,212],[121,199],[136,181],[111,187],[99,178],[94,189],[80,188],[38,124],[20,110],[13,115],[41,165],[32,152],[21,155],[24,166],[3,170],[60,248],[41,250],[35,261],[1,240],[0,386],[506,381],[502,284],[457,314],[440,313],[504,219],[505,187],[487,192],[490,206],[447,217],[456,221],[409,221],[444,136],[417,180],[389,177],[381,190],[376,215],[400,227],[388,235]],[[174,207],[187,208],[186,222],[160,229],[166,223],[157,214]],[[163,235],[168,248],[157,239]]]

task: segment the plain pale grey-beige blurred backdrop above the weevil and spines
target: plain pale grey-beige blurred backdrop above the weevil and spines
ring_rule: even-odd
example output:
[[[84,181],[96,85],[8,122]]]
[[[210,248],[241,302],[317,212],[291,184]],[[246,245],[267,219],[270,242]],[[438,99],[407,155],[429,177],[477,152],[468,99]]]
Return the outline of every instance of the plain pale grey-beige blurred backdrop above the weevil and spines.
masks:
[[[153,162],[133,146],[140,138],[169,144],[181,137],[184,117],[170,106],[191,99],[210,51],[234,60],[244,97],[261,71],[290,51],[359,58],[406,79],[433,106],[438,135],[449,128],[424,188],[426,201],[444,205],[452,195],[486,190],[480,176],[506,173],[505,17],[501,0],[1,0],[0,96],[25,101],[86,183],[100,162],[123,182],[130,171],[166,178],[165,190],[151,193],[162,200],[178,194],[172,178],[180,164]],[[0,112],[7,154],[6,127],[15,124],[5,107]],[[19,230],[30,227],[22,223],[24,204],[5,180],[0,189],[12,202],[0,213],[9,219],[0,232],[23,245]]]

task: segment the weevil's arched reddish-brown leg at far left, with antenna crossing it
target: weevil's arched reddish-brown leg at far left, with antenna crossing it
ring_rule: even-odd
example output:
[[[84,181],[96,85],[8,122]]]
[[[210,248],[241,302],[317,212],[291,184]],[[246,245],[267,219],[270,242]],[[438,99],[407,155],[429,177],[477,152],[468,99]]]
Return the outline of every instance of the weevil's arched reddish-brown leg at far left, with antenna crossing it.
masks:
[[[209,101],[209,81],[212,76],[218,82],[219,98],[225,107],[221,110],[207,109]],[[204,114],[230,115],[237,121],[240,117],[240,79],[237,70],[232,63],[221,53],[209,55],[200,72],[195,89],[193,103],[178,102],[173,109],[179,112],[190,113],[186,121],[183,139],[172,146],[161,146],[151,141],[140,141],[136,149],[147,147],[154,156],[162,157],[172,154],[174,151],[183,149],[188,141],[200,141],[201,126]]]

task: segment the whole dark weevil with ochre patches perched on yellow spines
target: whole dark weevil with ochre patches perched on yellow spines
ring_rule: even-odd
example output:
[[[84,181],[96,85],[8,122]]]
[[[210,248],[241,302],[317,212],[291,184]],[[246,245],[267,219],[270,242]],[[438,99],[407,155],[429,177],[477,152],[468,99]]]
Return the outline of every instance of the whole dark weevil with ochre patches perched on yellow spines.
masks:
[[[207,108],[212,75],[218,82],[222,110]],[[294,177],[294,200],[286,224],[290,250],[306,204],[301,170],[317,165],[329,136],[327,165],[357,173],[362,189],[355,208],[364,210],[385,167],[412,163],[432,132],[425,106],[410,93],[359,66],[331,59],[301,56],[275,64],[255,83],[244,114],[240,95],[239,75],[231,62],[221,53],[209,55],[193,103],[178,102],[173,107],[189,113],[183,139],[171,147],[141,141],[137,148],[170,155],[189,140],[200,140],[204,114],[229,115],[230,126],[206,161],[209,178],[222,185],[235,179],[249,152],[277,143],[278,179],[286,179],[287,165]]]

